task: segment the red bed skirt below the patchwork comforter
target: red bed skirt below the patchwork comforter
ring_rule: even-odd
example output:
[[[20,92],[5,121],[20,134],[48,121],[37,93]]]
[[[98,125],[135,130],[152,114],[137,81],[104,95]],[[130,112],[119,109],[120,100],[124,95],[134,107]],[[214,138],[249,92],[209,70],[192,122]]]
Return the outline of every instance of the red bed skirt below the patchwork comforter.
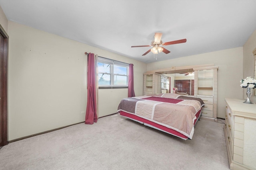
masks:
[[[201,110],[199,110],[197,113],[196,113],[196,119],[194,120],[194,125],[196,124],[197,120],[199,119],[200,117],[200,113],[201,113]],[[157,123],[154,123],[152,121],[149,121],[147,119],[144,119],[142,117],[138,117],[134,114],[130,114],[130,113],[126,113],[124,111],[120,111],[120,115],[124,116],[124,117],[127,117],[127,118],[130,118],[130,119],[134,119],[134,120],[137,120],[137,121],[140,121],[142,123],[146,123],[148,125],[151,125],[153,128],[155,129],[160,129],[160,131],[164,131],[166,133],[170,133],[171,135],[174,135],[174,136],[177,136],[177,137],[180,137],[184,140],[188,139],[188,137],[186,137],[185,135],[181,134],[180,132],[177,132],[173,129],[170,129],[168,127],[165,127],[163,125],[159,125]]]

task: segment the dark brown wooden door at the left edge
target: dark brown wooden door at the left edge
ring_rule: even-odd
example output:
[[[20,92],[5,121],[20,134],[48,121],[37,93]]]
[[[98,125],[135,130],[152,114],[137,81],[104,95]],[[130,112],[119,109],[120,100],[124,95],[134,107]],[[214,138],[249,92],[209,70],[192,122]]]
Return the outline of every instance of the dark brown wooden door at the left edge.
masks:
[[[7,145],[8,35],[0,25],[0,147]]]

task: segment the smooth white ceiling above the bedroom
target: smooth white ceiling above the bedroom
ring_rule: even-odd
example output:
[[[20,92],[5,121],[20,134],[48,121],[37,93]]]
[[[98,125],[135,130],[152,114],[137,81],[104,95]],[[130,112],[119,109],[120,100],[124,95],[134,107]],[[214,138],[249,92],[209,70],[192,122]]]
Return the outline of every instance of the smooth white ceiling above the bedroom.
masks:
[[[152,63],[242,47],[256,29],[256,0],[0,0],[6,17],[49,33]],[[169,54],[142,56],[154,33]],[[39,40],[40,41],[40,40]],[[96,53],[96,51],[87,51]],[[108,57],[108,56],[102,56]]]

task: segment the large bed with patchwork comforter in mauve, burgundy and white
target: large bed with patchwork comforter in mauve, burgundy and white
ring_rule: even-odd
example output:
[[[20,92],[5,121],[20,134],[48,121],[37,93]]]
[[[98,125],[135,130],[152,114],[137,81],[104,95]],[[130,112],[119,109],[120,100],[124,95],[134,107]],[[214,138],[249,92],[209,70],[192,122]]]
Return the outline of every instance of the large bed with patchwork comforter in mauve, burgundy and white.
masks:
[[[187,140],[193,137],[203,106],[200,98],[164,93],[124,98],[118,105],[118,113]]]

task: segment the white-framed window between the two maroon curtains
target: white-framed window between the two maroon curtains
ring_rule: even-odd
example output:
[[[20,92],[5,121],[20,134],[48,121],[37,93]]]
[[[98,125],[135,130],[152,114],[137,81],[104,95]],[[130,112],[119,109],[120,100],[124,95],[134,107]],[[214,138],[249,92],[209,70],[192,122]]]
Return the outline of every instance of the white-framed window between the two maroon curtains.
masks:
[[[99,88],[128,88],[129,64],[98,57]]]

